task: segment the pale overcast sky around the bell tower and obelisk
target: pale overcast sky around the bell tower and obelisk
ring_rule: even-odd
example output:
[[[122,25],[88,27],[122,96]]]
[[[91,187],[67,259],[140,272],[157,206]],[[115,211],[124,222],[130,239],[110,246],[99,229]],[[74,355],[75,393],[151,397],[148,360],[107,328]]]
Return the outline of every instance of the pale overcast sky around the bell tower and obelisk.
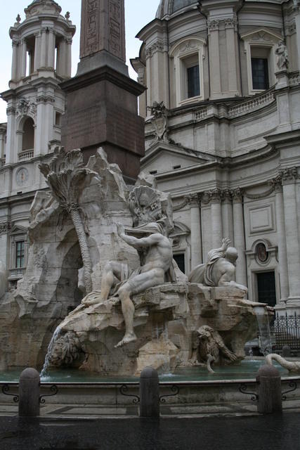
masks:
[[[70,19],[77,26],[72,44],[72,75],[77,71],[79,61],[79,34],[80,34],[80,9],[81,0],[56,0],[62,7],[62,14],[70,11]],[[1,68],[0,68],[0,92],[7,91],[8,81],[11,79],[12,47],[8,30],[15,23],[15,18],[20,14],[25,19],[24,8],[30,4],[30,0],[0,0],[0,42],[1,42]],[[141,41],[136,39],[136,34],[155,18],[159,0],[125,0],[126,15],[126,58],[129,65],[129,74],[136,78],[136,73],[131,69],[130,58],[136,58],[141,46]],[[0,123],[6,122],[6,102],[0,99]]]

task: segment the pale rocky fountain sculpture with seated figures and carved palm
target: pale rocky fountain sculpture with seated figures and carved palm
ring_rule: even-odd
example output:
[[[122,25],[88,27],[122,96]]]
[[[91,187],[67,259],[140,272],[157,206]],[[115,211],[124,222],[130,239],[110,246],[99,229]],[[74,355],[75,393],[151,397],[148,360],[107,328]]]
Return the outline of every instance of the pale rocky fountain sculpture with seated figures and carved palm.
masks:
[[[102,375],[244,358],[256,303],[233,281],[228,240],[188,279],[172,259],[171,197],[152,176],[129,188],[102,148],[86,166],[58,149],[40,169],[50,191],[32,203],[27,270],[0,304],[2,369],[41,367],[55,330],[50,366]]]

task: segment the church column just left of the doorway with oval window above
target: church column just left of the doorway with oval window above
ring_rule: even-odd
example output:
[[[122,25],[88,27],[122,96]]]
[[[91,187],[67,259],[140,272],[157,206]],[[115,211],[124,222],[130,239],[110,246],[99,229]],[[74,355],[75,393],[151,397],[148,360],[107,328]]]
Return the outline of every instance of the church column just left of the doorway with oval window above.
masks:
[[[238,259],[235,269],[235,281],[247,286],[247,266],[244,243],[244,212],[242,203],[242,191],[237,188],[233,191],[233,236],[234,246],[237,248]]]

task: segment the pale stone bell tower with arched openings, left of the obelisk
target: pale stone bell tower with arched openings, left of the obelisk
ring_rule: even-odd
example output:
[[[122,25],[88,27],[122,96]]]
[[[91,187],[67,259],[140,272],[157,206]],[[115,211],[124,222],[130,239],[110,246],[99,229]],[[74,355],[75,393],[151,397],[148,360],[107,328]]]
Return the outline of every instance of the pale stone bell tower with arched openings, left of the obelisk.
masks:
[[[61,15],[53,0],[34,0],[9,30],[13,60],[7,102],[6,164],[51,153],[60,142],[65,94],[59,84],[71,76],[70,13]],[[50,146],[49,146],[50,143]],[[4,166],[4,167],[5,167]]]

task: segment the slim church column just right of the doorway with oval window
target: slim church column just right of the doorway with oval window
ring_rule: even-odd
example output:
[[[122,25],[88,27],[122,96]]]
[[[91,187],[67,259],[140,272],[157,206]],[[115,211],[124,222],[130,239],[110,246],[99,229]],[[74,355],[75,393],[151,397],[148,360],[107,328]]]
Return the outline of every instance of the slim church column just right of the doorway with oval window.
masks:
[[[275,214],[278,233],[278,268],[280,277],[280,301],[289,297],[289,275],[287,271],[287,241],[285,233],[285,210],[283,207],[282,180],[279,176],[275,184]]]

